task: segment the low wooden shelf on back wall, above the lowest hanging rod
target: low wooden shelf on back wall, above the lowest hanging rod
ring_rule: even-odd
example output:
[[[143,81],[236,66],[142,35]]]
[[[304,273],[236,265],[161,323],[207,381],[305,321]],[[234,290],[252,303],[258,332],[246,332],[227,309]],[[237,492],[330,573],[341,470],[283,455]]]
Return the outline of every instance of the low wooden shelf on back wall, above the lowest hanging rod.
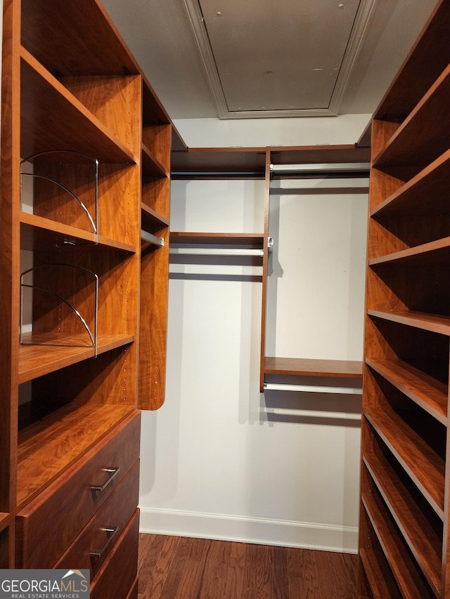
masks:
[[[264,374],[330,376],[361,379],[363,363],[352,360],[311,360],[308,358],[267,357]]]

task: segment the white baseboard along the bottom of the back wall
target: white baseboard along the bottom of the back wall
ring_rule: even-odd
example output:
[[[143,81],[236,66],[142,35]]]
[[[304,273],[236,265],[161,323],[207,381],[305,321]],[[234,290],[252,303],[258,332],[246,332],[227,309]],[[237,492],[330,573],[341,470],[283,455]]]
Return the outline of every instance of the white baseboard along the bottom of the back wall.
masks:
[[[141,532],[356,553],[357,527],[141,507]]]

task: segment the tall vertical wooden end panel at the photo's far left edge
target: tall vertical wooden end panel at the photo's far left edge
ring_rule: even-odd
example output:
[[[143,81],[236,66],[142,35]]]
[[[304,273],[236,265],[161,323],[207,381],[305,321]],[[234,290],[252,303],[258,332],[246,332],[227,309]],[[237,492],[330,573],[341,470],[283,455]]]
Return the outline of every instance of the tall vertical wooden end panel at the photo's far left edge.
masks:
[[[4,2],[4,37],[1,86],[1,176],[0,176],[0,511],[13,511],[15,499],[15,446],[17,442],[17,331],[19,322],[18,272],[19,238],[18,202],[20,180],[20,105],[17,59],[20,10],[17,3]],[[2,562],[13,555],[14,543],[8,534],[1,534]]]

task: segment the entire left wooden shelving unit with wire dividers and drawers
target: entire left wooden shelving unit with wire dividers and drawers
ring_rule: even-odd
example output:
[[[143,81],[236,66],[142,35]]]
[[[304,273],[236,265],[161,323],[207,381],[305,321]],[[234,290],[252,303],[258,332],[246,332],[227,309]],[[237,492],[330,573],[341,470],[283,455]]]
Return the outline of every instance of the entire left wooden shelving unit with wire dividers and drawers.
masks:
[[[3,22],[0,567],[75,556],[92,596],[120,578],[136,598],[138,408],[164,400],[168,278],[168,243],[141,231],[168,242],[172,123],[99,0],[5,0]],[[95,565],[77,553],[91,518],[120,522]]]

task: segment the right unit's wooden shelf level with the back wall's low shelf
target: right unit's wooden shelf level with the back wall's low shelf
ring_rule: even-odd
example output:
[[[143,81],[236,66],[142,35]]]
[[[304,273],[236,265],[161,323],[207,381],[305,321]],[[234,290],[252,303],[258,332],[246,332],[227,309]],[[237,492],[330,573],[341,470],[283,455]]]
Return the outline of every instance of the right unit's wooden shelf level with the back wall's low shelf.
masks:
[[[428,414],[447,425],[448,387],[444,383],[402,360],[366,358],[366,364]]]

